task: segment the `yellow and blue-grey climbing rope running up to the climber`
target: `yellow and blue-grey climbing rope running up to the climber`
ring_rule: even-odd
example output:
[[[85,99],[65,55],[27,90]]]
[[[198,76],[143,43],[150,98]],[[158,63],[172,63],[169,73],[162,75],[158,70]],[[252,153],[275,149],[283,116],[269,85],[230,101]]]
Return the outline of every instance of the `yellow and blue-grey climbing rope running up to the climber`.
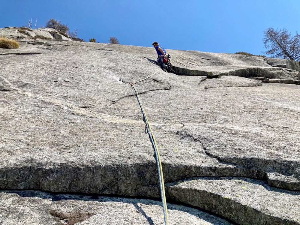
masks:
[[[160,69],[160,67],[158,68],[158,70],[159,69]],[[155,73],[157,73],[158,70]],[[150,76],[153,76],[155,73],[153,73]],[[154,148],[154,151],[155,151],[156,163],[157,163],[157,167],[158,167],[159,184],[160,184],[160,189],[161,189],[161,201],[163,202],[164,221],[165,221],[165,225],[169,225],[169,222],[168,222],[167,201],[166,201],[166,194],[165,194],[165,187],[164,187],[164,176],[163,176],[163,170],[162,170],[162,167],[161,167],[161,157],[159,155],[159,151],[158,151],[158,148],[157,148],[156,140],[155,140],[154,134],[152,132],[151,126],[149,124],[149,120],[148,120],[148,118],[146,116],[143,104],[142,104],[142,102],[140,100],[139,93],[138,93],[137,89],[135,89],[135,87],[134,87],[134,84],[136,84],[138,82],[141,82],[143,80],[146,80],[150,76],[147,76],[146,78],[144,78],[142,80],[139,80],[139,81],[136,81],[136,82],[126,82],[126,81],[121,80],[121,79],[120,79],[120,81],[122,81],[123,83],[126,83],[126,84],[130,84],[131,87],[134,89],[136,95],[137,95],[137,101],[140,104],[140,107],[141,107],[141,110],[142,110],[142,113],[143,113],[143,116],[144,116],[144,119],[145,119],[146,127],[147,127],[147,130],[148,130],[148,134],[149,134],[149,137],[151,139],[151,142],[152,142],[152,145],[153,145],[153,148]]]

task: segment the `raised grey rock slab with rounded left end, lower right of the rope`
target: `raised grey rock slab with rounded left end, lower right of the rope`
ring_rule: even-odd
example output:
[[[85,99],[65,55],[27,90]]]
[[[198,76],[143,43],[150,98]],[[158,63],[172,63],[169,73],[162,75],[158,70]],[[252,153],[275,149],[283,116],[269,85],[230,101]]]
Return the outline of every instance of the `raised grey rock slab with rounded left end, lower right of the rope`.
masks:
[[[237,224],[300,224],[300,193],[272,188],[262,181],[194,178],[167,189],[171,199],[204,208]]]

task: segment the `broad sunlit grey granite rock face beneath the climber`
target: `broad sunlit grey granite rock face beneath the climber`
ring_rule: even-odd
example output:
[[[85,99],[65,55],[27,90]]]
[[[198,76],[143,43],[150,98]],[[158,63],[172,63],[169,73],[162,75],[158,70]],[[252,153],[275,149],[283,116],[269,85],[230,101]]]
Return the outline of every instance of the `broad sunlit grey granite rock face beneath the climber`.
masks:
[[[135,87],[159,146],[168,200],[238,224],[300,224],[300,86],[271,83],[297,83],[298,62],[285,60],[273,67],[263,57],[170,49],[173,74],[158,68],[150,47],[27,42],[20,49],[0,49],[2,205],[20,198],[9,193],[16,189],[159,199],[154,150],[135,93],[126,83],[158,71]],[[238,182],[251,192],[241,192]],[[27,202],[19,204],[31,204],[38,196],[25,197]],[[97,202],[80,206],[77,197],[49,198],[38,199],[41,204],[35,203],[29,214],[43,211],[41,217],[52,222],[32,224],[60,224],[76,216],[95,224],[103,220],[90,210],[100,207]],[[149,216],[151,207],[143,209],[149,210],[146,216],[135,207],[143,215],[136,218],[144,221],[139,222],[129,217],[132,206],[125,212],[121,205],[101,207],[128,214],[127,223],[116,224],[163,221],[160,215]],[[284,215],[283,205],[290,207]],[[5,207],[0,221],[13,224],[5,219]],[[197,224],[191,221],[199,219],[185,215],[170,213],[169,218]]]

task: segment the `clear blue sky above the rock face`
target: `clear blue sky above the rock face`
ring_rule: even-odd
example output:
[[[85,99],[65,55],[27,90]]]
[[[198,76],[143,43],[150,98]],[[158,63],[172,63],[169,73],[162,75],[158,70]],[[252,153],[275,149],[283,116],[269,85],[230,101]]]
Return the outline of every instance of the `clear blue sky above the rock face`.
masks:
[[[37,27],[53,18],[88,41],[204,52],[265,51],[268,27],[300,30],[299,0],[10,0],[1,1],[0,28]],[[298,29],[298,30],[297,30]]]

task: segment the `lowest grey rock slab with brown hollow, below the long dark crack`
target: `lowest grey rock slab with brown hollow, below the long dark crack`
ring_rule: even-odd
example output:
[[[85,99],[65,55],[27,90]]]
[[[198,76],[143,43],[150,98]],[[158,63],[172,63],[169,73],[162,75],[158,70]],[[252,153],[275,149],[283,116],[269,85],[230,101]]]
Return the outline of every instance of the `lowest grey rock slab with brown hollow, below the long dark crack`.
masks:
[[[203,211],[168,204],[169,224],[230,225]],[[164,224],[161,202],[121,197],[52,194],[41,191],[0,192],[2,225]]]

